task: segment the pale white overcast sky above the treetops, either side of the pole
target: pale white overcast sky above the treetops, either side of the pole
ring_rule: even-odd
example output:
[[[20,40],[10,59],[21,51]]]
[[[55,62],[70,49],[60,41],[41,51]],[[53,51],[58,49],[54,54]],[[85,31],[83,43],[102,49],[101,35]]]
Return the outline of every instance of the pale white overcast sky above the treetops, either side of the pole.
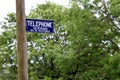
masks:
[[[1,0],[0,1],[0,21],[10,12],[16,12],[16,0]],[[68,5],[68,0],[25,0],[26,14],[29,13],[30,9],[36,7],[36,4],[45,3],[45,1],[54,2],[60,5]]]

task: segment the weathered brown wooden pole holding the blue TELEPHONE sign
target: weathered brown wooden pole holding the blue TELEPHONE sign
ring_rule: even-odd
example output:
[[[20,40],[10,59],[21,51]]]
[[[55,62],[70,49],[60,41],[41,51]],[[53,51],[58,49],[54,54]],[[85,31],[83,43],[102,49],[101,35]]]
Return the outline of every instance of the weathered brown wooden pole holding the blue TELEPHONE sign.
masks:
[[[25,2],[16,0],[18,80],[28,80]]]

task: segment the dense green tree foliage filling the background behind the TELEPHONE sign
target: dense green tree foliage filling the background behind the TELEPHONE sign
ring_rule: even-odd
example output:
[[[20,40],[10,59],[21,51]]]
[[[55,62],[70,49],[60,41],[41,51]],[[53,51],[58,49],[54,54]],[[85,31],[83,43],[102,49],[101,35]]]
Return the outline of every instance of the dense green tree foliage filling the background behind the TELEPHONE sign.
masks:
[[[29,80],[119,80],[120,34],[112,21],[119,19],[119,11],[112,11],[115,4],[119,0],[73,0],[69,8],[47,2],[32,9],[27,18],[52,19],[55,30],[27,33]],[[15,21],[11,13],[2,26],[0,80],[17,79],[16,26],[8,24]]]

